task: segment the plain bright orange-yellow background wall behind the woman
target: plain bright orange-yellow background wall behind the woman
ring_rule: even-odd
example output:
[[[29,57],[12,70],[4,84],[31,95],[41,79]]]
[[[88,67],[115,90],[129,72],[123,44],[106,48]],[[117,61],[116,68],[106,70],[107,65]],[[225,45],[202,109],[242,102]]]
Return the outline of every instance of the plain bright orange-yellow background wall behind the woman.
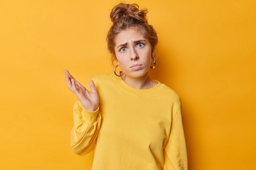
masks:
[[[121,1],[0,0],[0,167],[90,170],[72,153],[83,85],[112,72],[110,11]],[[137,0],[159,37],[151,78],[182,99],[189,170],[256,168],[256,2]],[[110,153],[111,154],[111,153]],[[118,160],[117,160],[118,161]]]

